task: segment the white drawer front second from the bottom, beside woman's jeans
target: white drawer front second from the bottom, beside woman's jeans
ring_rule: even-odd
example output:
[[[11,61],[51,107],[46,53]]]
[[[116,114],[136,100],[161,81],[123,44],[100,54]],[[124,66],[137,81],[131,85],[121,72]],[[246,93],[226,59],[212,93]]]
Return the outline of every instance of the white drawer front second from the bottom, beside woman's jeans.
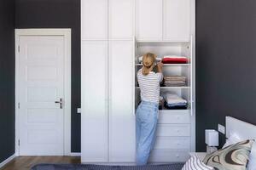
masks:
[[[157,137],[155,150],[190,150],[190,137]]]

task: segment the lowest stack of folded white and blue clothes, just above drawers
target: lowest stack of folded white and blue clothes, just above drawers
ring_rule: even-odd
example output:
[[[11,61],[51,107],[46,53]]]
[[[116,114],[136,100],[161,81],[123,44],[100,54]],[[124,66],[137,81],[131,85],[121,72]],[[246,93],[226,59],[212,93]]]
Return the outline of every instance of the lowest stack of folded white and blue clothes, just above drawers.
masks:
[[[187,109],[187,100],[179,97],[177,94],[166,94],[165,107],[167,109]]]

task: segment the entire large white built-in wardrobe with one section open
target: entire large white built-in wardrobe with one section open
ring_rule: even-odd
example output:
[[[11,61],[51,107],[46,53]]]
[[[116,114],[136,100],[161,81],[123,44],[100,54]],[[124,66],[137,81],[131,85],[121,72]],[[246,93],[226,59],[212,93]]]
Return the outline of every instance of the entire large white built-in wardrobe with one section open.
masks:
[[[165,62],[149,161],[195,151],[194,18],[191,0],[81,0],[82,162],[135,163],[137,71],[148,52]]]

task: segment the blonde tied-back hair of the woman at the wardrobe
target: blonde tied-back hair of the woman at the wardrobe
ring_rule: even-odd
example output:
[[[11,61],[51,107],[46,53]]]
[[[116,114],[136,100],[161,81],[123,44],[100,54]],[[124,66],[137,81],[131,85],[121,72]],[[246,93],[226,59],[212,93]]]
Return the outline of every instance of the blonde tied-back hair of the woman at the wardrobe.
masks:
[[[156,55],[152,53],[147,53],[143,55],[143,75],[147,76],[149,72],[153,69]]]

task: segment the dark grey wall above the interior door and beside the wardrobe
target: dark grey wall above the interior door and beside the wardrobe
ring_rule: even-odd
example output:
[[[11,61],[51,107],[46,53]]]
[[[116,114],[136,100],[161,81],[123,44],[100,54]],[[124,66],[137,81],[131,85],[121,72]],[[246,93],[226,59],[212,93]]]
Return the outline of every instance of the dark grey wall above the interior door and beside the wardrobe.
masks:
[[[15,0],[16,28],[72,28],[71,150],[80,151],[80,0]]]

